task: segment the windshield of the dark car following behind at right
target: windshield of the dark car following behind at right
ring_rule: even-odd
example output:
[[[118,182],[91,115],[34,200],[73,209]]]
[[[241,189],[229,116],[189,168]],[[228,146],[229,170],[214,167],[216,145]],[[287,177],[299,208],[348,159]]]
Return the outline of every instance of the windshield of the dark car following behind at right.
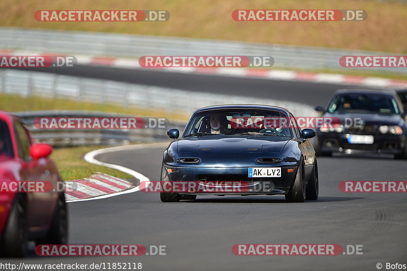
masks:
[[[329,113],[382,113],[399,114],[396,100],[386,94],[345,93],[334,97],[328,106]]]

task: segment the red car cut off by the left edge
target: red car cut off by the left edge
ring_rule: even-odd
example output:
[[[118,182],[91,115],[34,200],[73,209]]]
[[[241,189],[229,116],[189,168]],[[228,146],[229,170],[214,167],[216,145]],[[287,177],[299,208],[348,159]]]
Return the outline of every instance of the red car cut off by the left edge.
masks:
[[[50,145],[34,142],[18,117],[0,111],[0,255],[25,256],[28,240],[67,242],[63,180],[51,152]],[[34,183],[52,189],[24,189]]]

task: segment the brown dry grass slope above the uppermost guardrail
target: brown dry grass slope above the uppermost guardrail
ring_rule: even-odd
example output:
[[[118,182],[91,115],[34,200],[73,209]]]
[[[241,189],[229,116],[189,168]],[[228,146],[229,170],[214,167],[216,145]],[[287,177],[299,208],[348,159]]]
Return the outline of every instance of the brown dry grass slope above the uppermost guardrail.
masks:
[[[168,10],[167,22],[38,22],[37,10]],[[237,22],[235,9],[364,9],[365,21]],[[407,53],[407,5],[362,0],[2,0],[0,24]]]

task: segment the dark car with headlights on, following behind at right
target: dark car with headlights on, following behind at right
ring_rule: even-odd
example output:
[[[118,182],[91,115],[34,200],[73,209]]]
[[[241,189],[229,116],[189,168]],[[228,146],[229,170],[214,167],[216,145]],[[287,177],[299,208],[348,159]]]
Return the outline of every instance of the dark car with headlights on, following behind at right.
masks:
[[[406,116],[394,91],[341,89],[326,108],[316,106],[315,110],[341,122],[339,127],[317,129],[317,155],[371,152],[407,159]]]

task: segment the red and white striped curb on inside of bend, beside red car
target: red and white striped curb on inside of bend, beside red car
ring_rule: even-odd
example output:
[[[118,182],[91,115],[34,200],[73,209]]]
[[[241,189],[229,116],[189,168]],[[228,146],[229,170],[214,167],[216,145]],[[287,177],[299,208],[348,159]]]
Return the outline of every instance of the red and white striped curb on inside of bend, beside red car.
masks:
[[[133,184],[127,180],[98,172],[82,180],[65,182],[65,199],[69,202],[93,198],[117,193],[131,187],[133,187]]]

